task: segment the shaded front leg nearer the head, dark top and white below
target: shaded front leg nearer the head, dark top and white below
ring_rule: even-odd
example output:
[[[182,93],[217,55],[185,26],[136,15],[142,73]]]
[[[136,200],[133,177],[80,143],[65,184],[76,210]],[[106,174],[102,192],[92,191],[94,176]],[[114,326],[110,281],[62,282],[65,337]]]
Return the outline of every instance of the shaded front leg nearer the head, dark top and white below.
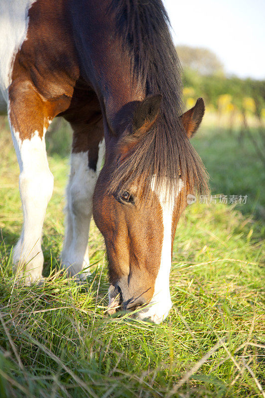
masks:
[[[88,234],[92,197],[104,154],[102,121],[71,123],[73,148],[71,172],[66,190],[66,233],[62,265],[70,276],[85,281],[89,273]]]

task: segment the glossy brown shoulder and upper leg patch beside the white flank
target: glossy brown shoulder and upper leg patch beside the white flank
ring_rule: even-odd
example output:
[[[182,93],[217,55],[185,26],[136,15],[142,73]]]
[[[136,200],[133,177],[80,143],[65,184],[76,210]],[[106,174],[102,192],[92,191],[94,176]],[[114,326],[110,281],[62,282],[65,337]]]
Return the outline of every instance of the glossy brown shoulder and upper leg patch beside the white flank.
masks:
[[[10,121],[20,139],[66,110],[79,66],[63,0],[38,0],[29,9],[27,40],[15,55],[9,87]]]

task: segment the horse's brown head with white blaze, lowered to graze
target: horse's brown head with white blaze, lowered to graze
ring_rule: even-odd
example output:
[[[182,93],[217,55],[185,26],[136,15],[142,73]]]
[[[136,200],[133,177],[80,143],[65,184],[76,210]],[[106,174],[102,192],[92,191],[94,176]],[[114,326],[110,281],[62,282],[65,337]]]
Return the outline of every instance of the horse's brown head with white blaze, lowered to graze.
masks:
[[[156,323],[165,319],[172,306],[169,274],[173,241],[186,195],[192,192],[187,179],[182,179],[180,167],[175,187],[170,190],[171,181],[165,178],[162,185],[156,184],[156,174],[150,175],[150,168],[145,170],[148,161],[141,159],[150,148],[154,153],[149,157],[153,158],[155,151],[161,150],[154,143],[156,124],[163,118],[161,101],[161,95],[135,101],[123,133],[113,138],[115,145],[106,147],[105,164],[93,196],[93,217],[108,257],[108,312],[139,307],[138,318]],[[197,130],[203,114],[204,102],[199,99],[179,117],[186,139]],[[149,145],[151,142],[154,146]],[[164,145],[167,151],[166,142]],[[134,167],[138,169],[135,178]]]

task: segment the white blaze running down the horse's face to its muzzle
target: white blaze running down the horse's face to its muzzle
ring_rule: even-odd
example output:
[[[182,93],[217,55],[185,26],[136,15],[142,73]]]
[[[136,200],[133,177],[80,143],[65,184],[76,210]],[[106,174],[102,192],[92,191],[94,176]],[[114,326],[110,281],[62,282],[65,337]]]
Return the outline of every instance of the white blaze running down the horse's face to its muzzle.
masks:
[[[170,269],[171,269],[171,244],[172,244],[172,216],[175,200],[183,188],[182,180],[178,180],[177,192],[173,200],[166,195],[166,191],[161,190],[158,194],[163,211],[163,244],[161,252],[161,263],[155,282],[153,298],[147,307],[137,312],[139,319],[149,318],[155,323],[161,323],[169,314],[172,307],[170,296]]]

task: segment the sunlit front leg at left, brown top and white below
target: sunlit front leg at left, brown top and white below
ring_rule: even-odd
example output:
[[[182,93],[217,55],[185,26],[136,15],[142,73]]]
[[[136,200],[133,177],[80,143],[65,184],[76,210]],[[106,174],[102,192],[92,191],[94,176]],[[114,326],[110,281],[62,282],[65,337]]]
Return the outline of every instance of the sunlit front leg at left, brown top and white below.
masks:
[[[26,284],[42,277],[42,227],[53,192],[45,131],[49,124],[41,97],[29,82],[13,82],[9,88],[8,117],[19,163],[19,192],[24,223],[13,250],[13,270]]]

